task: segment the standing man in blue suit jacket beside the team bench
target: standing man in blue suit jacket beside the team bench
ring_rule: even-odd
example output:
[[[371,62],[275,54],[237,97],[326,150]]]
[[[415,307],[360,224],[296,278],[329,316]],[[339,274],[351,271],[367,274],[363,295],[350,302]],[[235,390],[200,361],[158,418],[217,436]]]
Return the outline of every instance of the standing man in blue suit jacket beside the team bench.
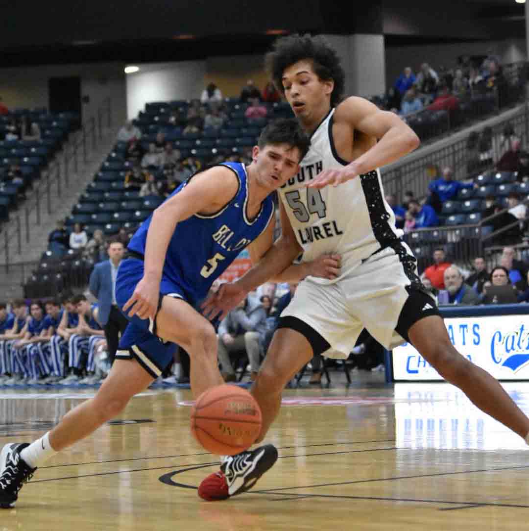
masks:
[[[110,363],[114,363],[120,332],[123,333],[128,321],[116,305],[117,268],[123,259],[125,248],[121,242],[110,242],[108,246],[109,260],[96,264],[90,275],[90,292],[97,298],[99,306],[98,320],[108,345]]]

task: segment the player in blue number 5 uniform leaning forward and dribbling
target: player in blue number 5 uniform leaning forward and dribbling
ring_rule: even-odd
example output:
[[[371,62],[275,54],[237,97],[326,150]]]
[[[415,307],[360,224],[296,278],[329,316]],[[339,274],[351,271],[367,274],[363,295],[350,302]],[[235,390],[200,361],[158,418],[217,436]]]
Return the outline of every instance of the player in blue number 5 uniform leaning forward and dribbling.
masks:
[[[0,507],[14,506],[23,483],[47,458],[120,414],[172,363],[175,344],[190,354],[194,396],[224,383],[215,329],[194,306],[242,249],[249,246],[253,261],[268,251],[270,194],[296,175],[309,144],[295,119],[271,122],[248,167],[225,163],[193,175],[143,222],[117,275],[116,300],[130,323],[109,375],[95,397],[42,438],[4,446]],[[266,448],[258,452],[263,463],[277,458],[271,448],[271,455]]]

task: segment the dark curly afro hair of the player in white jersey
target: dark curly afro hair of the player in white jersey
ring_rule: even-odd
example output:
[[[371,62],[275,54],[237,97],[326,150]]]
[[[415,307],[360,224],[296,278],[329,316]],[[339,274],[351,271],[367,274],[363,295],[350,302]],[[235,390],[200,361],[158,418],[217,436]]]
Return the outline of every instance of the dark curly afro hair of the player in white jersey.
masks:
[[[276,40],[271,52],[265,57],[265,64],[277,90],[285,95],[282,81],[285,68],[304,59],[312,61],[314,73],[320,80],[334,81],[330,104],[332,107],[338,105],[343,99],[345,72],[338,54],[320,35],[312,37],[308,33],[296,34]]]

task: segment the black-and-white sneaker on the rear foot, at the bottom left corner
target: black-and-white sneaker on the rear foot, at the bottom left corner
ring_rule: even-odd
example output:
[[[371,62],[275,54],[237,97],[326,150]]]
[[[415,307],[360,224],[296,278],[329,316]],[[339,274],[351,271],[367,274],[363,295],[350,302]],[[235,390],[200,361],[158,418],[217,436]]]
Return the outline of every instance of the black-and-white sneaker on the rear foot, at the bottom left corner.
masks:
[[[20,451],[29,446],[27,442],[6,444],[0,453],[0,507],[11,509],[22,485],[29,481],[37,468],[30,468],[20,458]]]

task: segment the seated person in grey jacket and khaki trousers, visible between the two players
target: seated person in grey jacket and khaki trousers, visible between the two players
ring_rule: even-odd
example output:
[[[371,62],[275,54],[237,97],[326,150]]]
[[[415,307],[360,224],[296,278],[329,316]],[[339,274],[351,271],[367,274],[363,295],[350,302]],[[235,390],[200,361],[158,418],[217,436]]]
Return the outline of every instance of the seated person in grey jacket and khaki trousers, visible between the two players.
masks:
[[[230,352],[246,350],[250,362],[250,379],[257,378],[261,345],[266,331],[267,313],[259,300],[246,297],[228,312],[218,328],[218,358],[227,382],[235,381]]]

